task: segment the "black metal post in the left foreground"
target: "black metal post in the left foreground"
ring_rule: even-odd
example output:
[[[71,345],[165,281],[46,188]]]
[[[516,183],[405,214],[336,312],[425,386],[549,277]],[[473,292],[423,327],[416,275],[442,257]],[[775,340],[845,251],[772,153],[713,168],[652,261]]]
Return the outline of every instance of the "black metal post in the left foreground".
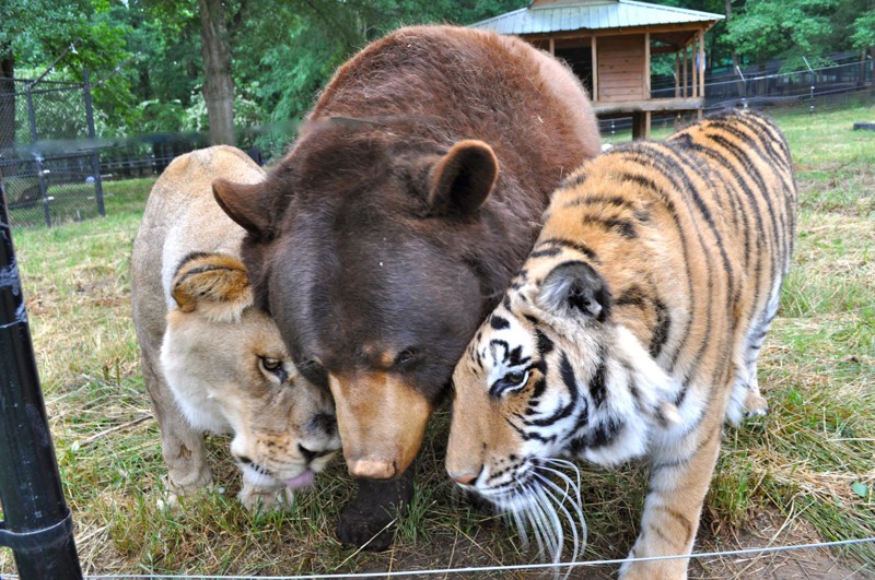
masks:
[[[81,580],[0,184],[0,546],[22,580]]]

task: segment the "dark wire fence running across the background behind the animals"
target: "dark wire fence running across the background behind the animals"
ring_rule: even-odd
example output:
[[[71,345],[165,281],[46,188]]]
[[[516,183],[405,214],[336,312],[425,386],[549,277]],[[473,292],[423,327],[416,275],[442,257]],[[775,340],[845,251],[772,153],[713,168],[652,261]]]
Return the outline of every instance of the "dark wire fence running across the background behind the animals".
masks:
[[[814,113],[819,104],[872,95],[871,56],[839,54],[812,61],[821,64],[812,67],[804,59],[805,68],[792,71],[783,70],[781,61],[711,71],[705,110],[805,106]],[[160,175],[176,156],[209,144],[199,132],[94,139],[88,71],[84,78],[84,83],[0,78],[0,179],[13,226],[51,226],[104,214],[102,180]],[[674,78],[654,78],[652,85],[653,98],[674,96]],[[652,122],[672,127],[678,120],[677,114],[665,114]],[[294,132],[289,122],[278,125]],[[599,121],[605,135],[631,127],[631,117]],[[256,143],[259,134],[275,129],[243,131],[241,149],[264,164]]]

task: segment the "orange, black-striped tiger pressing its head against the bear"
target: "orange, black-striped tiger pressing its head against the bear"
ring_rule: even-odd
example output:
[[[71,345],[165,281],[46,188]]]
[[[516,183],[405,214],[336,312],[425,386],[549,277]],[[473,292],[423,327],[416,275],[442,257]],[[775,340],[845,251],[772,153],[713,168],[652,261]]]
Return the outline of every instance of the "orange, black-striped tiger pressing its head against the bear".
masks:
[[[686,578],[723,425],[768,410],[757,358],[795,225],[786,140],[754,111],[585,162],[454,370],[450,477],[545,532],[559,458],[644,458],[620,578]]]

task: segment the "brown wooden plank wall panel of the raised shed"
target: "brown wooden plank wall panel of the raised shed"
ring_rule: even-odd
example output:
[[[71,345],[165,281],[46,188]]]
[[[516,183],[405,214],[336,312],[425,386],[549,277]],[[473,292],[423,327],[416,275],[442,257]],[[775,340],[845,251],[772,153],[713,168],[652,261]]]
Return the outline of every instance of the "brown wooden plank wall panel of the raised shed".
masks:
[[[645,91],[645,36],[599,36],[597,39],[599,102],[650,98]]]

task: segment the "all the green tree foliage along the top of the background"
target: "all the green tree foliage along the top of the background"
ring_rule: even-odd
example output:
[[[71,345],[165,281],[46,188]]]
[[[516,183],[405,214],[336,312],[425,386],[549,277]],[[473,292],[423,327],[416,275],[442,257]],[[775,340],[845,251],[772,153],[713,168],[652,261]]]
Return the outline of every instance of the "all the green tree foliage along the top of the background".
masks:
[[[848,49],[875,51],[875,0],[651,0],[731,17],[705,36],[709,67],[788,58],[804,68]],[[262,127],[260,144],[278,152],[290,122],[312,106],[331,73],[366,43],[400,25],[470,24],[528,0],[229,0],[229,42],[238,128]],[[75,43],[49,79],[81,79],[95,91],[106,134],[203,129],[197,0],[3,0],[0,59],[39,74]],[[670,74],[672,57],[654,58]],[[22,74],[16,74],[22,78]]]

